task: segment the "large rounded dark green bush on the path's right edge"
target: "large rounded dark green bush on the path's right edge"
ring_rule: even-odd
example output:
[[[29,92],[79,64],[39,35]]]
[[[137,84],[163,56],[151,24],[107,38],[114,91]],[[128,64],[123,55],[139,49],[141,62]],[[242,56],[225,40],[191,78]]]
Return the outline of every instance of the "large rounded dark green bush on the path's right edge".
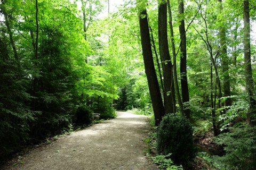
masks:
[[[193,129],[185,117],[168,114],[158,126],[157,151],[159,154],[172,153],[175,164],[185,165],[194,158]]]

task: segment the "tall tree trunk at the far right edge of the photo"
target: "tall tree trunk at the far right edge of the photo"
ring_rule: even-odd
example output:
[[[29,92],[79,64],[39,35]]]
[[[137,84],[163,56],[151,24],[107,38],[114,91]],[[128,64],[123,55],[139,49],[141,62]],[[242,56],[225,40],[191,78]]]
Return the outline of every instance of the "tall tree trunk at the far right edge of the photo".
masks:
[[[243,15],[244,15],[244,64],[245,64],[245,82],[246,90],[249,95],[250,109],[247,113],[247,121],[251,125],[255,125],[255,112],[256,112],[256,101],[254,99],[254,83],[252,78],[252,65],[251,65],[251,37],[250,37],[250,10],[249,0],[243,2]]]

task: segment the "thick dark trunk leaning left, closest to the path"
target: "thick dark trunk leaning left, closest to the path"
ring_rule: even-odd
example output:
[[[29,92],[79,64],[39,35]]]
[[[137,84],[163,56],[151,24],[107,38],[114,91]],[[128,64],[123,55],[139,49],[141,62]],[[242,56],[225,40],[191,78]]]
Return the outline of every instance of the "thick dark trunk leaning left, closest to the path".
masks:
[[[146,17],[142,18],[141,16]],[[139,12],[139,23],[145,72],[147,75],[149,93],[155,115],[155,125],[157,126],[161,122],[162,116],[165,115],[165,110],[155,71],[146,9]]]

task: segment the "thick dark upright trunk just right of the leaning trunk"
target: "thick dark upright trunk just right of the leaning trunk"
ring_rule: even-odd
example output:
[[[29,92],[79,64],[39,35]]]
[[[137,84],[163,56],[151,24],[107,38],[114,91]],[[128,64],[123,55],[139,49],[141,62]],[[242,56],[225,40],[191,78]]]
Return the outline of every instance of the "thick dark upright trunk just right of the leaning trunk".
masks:
[[[172,86],[172,61],[169,53],[167,36],[167,3],[161,2],[158,5],[158,40],[159,53],[164,76],[164,108],[165,113],[174,113]],[[175,100],[174,100],[175,101]]]

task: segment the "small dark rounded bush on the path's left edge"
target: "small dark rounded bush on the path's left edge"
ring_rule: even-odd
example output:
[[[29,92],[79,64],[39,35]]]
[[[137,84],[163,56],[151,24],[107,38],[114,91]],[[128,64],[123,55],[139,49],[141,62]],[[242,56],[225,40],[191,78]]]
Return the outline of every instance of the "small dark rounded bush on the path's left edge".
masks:
[[[76,111],[76,125],[90,125],[93,121],[93,115],[89,107],[79,106]]]

